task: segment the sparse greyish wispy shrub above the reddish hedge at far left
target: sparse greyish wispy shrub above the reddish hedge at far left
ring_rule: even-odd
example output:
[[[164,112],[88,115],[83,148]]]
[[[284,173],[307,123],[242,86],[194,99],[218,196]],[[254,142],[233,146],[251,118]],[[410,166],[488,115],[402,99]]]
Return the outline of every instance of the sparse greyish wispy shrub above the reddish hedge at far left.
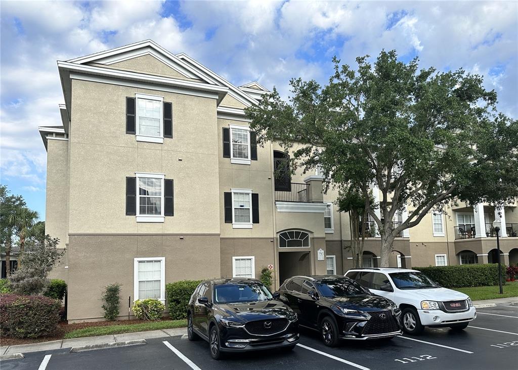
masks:
[[[37,295],[47,288],[47,275],[60,263],[65,254],[57,249],[59,239],[45,236],[43,241],[31,241],[19,256],[19,267],[9,276],[12,291],[17,294]]]

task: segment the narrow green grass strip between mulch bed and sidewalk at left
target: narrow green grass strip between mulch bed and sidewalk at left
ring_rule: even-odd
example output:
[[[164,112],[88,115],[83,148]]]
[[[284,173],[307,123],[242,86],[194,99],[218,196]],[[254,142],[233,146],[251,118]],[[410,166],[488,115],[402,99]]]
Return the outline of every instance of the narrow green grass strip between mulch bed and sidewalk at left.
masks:
[[[149,330],[160,330],[160,329],[174,329],[183,328],[187,326],[187,320],[164,320],[164,321],[150,321],[142,322],[138,324],[128,325],[109,325],[104,327],[91,327],[84,329],[77,329],[66,333],[64,338],[79,338],[83,336],[97,336],[107,334],[122,334],[122,333],[134,333],[143,332]]]

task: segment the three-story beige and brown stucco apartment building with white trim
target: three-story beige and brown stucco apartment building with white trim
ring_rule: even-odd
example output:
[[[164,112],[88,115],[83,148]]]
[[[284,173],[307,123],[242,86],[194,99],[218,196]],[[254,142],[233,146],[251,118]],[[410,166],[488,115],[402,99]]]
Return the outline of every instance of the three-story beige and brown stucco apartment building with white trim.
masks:
[[[124,306],[128,297],[165,300],[165,283],[180,279],[258,277],[269,267],[278,287],[295,274],[352,266],[336,193],[322,194],[318,173],[276,171],[286,154],[275,142],[256,145],[243,108],[268,93],[259,83],[235,86],[150,40],[58,67],[62,125],[39,130],[47,233],[66,247],[53,275],[68,284],[70,321],[102,318],[100,297],[112,283],[122,285]],[[491,262],[486,224],[495,212],[476,211],[430,214],[396,239],[392,265]],[[518,260],[515,211],[502,213],[506,263]],[[376,266],[370,221],[365,233],[363,263]]]

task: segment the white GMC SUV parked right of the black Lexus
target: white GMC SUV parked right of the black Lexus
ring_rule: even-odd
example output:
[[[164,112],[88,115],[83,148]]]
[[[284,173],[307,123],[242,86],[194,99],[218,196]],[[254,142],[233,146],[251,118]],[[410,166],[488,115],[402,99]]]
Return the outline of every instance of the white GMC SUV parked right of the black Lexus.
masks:
[[[424,327],[463,330],[477,317],[466,294],[442,288],[416,270],[353,269],[345,276],[373,294],[394,301],[402,311],[402,329],[408,334],[419,334]]]

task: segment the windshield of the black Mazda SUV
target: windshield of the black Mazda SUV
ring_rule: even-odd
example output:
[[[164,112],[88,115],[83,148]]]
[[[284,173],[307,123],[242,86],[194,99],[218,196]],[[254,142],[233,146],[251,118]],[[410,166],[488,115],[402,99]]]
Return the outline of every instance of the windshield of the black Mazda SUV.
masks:
[[[214,287],[217,303],[262,302],[272,299],[268,288],[259,282],[220,284]]]

